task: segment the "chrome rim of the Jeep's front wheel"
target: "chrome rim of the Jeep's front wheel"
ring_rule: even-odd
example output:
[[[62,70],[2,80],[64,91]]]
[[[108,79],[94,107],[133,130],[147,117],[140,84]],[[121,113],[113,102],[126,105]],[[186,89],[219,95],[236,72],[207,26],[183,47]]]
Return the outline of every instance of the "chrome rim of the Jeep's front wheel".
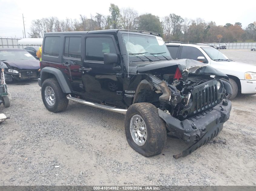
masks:
[[[147,141],[147,128],[145,121],[139,115],[131,117],[130,132],[133,141],[138,146],[143,146]]]

